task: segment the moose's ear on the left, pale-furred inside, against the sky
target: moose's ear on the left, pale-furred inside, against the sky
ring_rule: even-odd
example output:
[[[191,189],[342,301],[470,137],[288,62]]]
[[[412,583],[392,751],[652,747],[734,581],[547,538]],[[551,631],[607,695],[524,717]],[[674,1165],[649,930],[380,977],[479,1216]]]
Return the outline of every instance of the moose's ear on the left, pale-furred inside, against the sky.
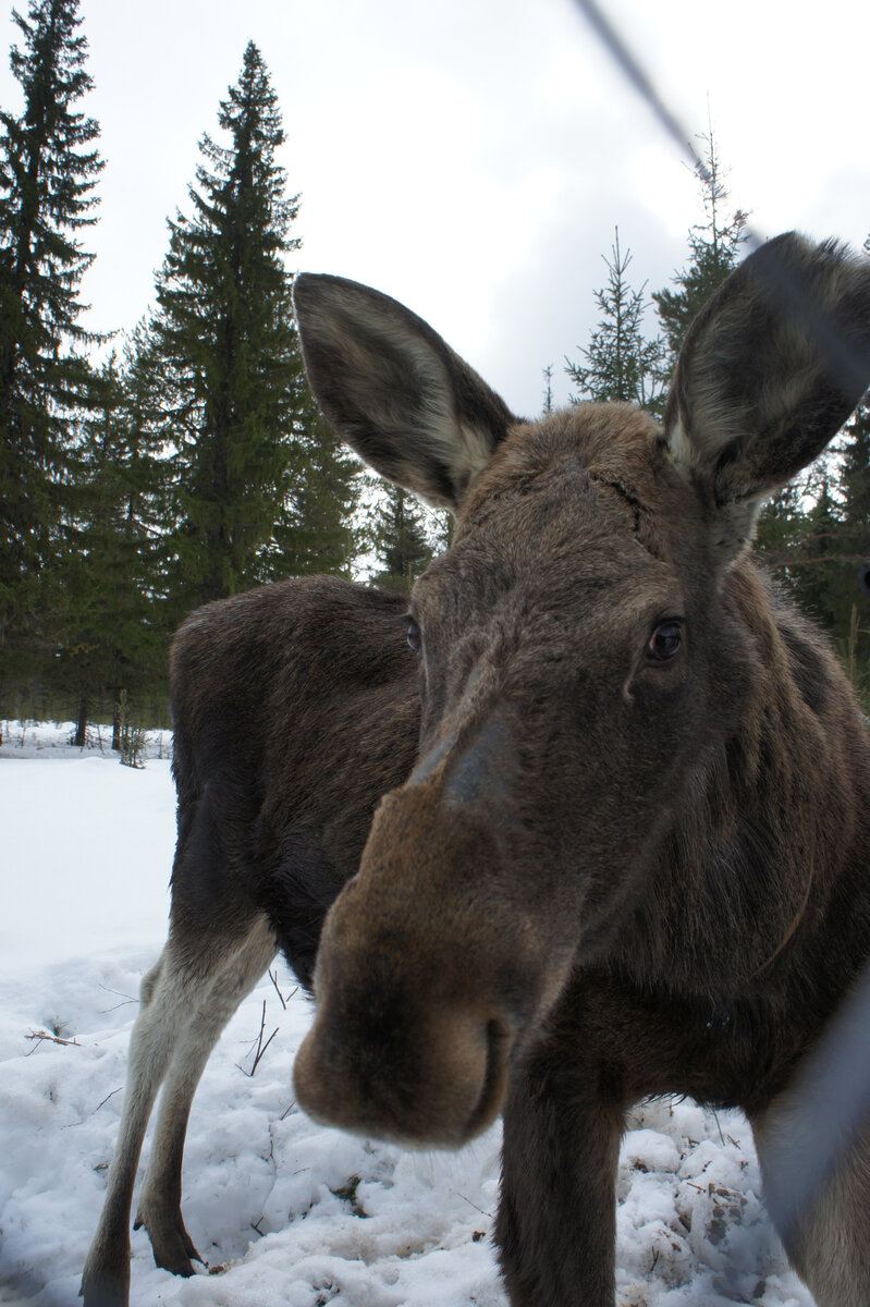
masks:
[[[293,298],[308,380],[338,435],[389,481],[456,511],[516,421],[503,400],[389,295],[302,273]]]

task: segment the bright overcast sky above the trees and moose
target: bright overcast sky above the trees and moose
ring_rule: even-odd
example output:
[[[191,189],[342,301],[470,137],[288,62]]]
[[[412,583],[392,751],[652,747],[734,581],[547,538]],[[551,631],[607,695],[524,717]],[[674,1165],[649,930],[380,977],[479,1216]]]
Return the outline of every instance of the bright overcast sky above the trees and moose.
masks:
[[[688,132],[712,118],[734,204],[765,235],[870,231],[867,0],[601,0]],[[26,0],[18,0],[25,8]],[[619,223],[635,284],[685,261],[698,186],[573,0],[82,0],[86,108],[107,161],[93,325],[153,298],[166,217],[253,39],[300,192],[298,268],[388,291],[521,414],[596,320]],[[10,9],[9,9],[10,14]],[[16,37],[8,21],[8,47]],[[17,108],[4,67],[0,105]]]

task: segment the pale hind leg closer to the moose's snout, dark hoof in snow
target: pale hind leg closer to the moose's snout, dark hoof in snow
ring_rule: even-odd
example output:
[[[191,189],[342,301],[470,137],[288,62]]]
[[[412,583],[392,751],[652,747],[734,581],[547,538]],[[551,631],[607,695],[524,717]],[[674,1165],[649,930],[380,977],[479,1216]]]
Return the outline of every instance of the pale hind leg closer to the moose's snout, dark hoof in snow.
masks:
[[[154,1261],[176,1276],[193,1274],[191,1259],[202,1260],[182,1218],[182,1155],[193,1094],[221,1031],[274,951],[274,936],[263,918],[200,999],[166,1076],[135,1229],[145,1226]]]

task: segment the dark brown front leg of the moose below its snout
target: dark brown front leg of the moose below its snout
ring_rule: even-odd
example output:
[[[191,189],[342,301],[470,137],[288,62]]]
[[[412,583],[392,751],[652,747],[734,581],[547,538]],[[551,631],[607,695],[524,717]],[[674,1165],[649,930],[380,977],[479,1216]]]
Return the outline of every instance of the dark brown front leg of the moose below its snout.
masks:
[[[623,1110],[555,1033],[515,1068],[495,1240],[511,1307],[611,1307]]]

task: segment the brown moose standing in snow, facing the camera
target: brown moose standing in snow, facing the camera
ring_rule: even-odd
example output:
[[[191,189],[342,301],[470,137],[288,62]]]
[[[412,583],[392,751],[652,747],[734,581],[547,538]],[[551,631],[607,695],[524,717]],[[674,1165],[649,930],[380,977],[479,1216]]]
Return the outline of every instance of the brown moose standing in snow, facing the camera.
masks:
[[[627,1110],[742,1108],[763,1175],[870,958],[870,742],[826,640],[749,552],[767,497],[870,382],[870,260],[788,234],[701,310],[664,425],[521,421],[435,331],[302,274],[323,412],[455,514],[408,596],[302,579],[210,604],[171,655],[178,847],[142,980],[86,1307],[128,1299],[136,1225],[193,1273],[191,1100],[281,949],[316,999],[321,1121],[459,1148],[504,1121],[512,1307],[614,1302]],[[870,1124],[782,1230],[819,1307],[870,1307]]]

